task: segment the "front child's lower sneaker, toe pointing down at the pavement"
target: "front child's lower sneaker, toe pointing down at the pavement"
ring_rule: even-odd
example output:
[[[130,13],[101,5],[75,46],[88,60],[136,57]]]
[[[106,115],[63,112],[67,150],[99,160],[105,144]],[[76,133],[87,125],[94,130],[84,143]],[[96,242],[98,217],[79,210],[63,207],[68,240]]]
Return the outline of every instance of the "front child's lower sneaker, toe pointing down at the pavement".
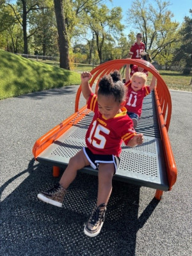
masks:
[[[105,212],[106,204],[100,204],[98,207],[94,207],[90,219],[84,226],[84,234],[94,237],[100,233],[100,230],[104,223]]]

